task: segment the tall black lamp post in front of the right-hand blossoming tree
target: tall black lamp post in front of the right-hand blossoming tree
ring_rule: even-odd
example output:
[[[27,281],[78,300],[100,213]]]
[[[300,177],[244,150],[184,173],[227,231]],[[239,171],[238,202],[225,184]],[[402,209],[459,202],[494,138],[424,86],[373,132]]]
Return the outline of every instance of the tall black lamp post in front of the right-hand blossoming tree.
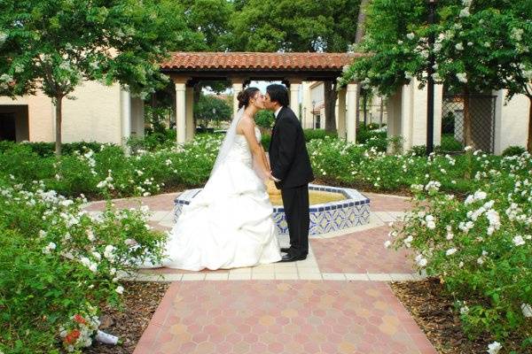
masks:
[[[434,25],[437,0],[428,0],[428,25]],[[432,29],[432,28],[431,28]],[[428,68],[426,73],[426,155],[434,151],[434,31],[428,35]]]

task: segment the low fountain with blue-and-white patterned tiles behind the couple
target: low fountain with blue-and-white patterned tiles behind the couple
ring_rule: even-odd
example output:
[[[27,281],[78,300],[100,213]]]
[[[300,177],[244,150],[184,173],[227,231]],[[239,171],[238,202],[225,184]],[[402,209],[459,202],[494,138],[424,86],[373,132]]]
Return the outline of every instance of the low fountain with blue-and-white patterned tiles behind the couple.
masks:
[[[201,189],[187,189],[177,196],[174,206],[174,218],[177,220],[183,206],[189,204]],[[340,195],[340,200],[321,204],[312,204],[313,193],[332,193]],[[320,186],[309,184],[310,194],[310,236],[327,235],[362,226],[370,222],[370,199],[356,189]],[[338,198],[337,198],[338,199]],[[279,235],[287,235],[286,215],[283,206],[273,206],[273,219]]]

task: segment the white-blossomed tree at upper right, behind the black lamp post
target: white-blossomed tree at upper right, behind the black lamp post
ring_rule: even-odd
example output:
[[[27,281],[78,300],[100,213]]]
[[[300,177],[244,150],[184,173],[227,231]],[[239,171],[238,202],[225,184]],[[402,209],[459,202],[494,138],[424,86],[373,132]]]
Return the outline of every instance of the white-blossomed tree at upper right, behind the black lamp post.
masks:
[[[341,83],[356,79],[383,95],[395,93],[414,77],[424,85],[432,53],[434,81],[464,94],[465,144],[474,147],[471,93],[530,93],[531,6],[525,1],[446,0],[438,3],[438,19],[429,26],[423,0],[373,0],[361,46],[371,56],[357,60]],[[429,34],[436,38],[432,48]]]

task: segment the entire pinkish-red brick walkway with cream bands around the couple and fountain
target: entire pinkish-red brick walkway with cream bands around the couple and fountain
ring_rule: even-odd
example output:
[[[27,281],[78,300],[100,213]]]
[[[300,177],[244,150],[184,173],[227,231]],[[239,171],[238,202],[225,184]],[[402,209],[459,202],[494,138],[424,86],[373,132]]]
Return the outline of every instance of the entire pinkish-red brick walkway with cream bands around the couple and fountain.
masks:
[[[419,278],[405,251],[387,250],[387,223],[411,208],[401,197],[364,193],[372,221],[360,231],[310,241],[300,262],[230,271],[145,270],[139,281],[173,281],[135,354],[435,354],[387,281]],[[115,201],[172,225],[176,194]],[[101,211],[102,203],[85,209]],[[281,238],[286,245],[287,238]]]

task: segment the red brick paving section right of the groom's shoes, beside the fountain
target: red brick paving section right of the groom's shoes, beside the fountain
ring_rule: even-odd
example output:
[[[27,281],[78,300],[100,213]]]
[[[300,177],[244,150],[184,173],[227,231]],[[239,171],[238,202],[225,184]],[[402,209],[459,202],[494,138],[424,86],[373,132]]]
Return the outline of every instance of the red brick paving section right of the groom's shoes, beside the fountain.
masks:
[[[390,227],[375,227],[329,239],[311,239],[323,273],[414,273],[405,250],[388,250]]]

